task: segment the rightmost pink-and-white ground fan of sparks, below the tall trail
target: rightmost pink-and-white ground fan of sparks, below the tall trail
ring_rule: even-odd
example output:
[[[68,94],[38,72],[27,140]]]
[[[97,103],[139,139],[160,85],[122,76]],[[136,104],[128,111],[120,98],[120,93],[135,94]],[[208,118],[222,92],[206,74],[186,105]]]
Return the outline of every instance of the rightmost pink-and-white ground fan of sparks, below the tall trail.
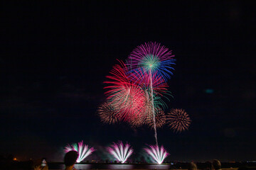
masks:
[[[158,164],[161,164],[164,159],[169,155],[169,153],[166,152],[166,149],[164,149],[163,146],[161,146],[161,148],[159,149],[158,145],[149,145],[149,148],[144,149]]]

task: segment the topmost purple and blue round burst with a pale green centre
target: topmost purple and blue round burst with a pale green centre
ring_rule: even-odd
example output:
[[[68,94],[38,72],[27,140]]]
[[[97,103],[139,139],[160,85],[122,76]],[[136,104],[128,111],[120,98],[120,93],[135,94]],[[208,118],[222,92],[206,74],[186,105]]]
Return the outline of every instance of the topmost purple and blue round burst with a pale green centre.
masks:
[[[174,55],[168,48],[157,42],[145,42],[137,46],[129,55],[127,65],[131,69],[143,67],[147,71],[161,74],[164,79],[170,78],[171,67],[174,63]]]

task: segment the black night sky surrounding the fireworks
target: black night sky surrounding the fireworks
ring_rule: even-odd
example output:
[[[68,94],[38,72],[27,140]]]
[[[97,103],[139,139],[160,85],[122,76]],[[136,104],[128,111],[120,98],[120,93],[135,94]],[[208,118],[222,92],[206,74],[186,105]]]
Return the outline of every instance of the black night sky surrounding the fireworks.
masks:
[[[0,154],[62,160],[84,142],[106,155],[129,142],[133,159],[154,131],[104,125],[103,81],[134,47],[156,41],[176,55],[171,108],[188,131],[158,130],[167,160],[256,159],[255,8],[249,1],[1,1]],[[213,89],[212,94],[206,89]]]

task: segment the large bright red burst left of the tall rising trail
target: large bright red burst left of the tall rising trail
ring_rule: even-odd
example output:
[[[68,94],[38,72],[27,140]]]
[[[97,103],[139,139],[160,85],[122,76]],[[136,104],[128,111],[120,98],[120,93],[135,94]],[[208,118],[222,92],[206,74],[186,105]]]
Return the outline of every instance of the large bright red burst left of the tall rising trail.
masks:
[[[125,69],[123,63],[113,67],[111,76],[107,76],[109,80],[105,81],[105,89],[109,89],[105,94],[108,102],[117,111],[117,117],[129,121],[131,118],[144,116],[142,106],[145,96],[143,89],[130,81]]]

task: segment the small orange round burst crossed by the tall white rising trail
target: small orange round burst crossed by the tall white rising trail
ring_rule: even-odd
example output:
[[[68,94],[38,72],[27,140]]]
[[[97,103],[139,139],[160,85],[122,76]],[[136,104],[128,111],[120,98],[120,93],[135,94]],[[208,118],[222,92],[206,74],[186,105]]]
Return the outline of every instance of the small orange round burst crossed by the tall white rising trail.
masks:
[[[162,128],[163,125],[166,123],[166,115],[165,115],[164,111],[161,110],[161,108],[156,109],[155,120],[156,120],[156,128]],[[149,127],[151,129],[154,128],[154,122],[153,122],[152,115],[150,115],[150,116],[148,116],[148,118],[146,118],[146,123],[147,123],[147,125],[149,125]]]

